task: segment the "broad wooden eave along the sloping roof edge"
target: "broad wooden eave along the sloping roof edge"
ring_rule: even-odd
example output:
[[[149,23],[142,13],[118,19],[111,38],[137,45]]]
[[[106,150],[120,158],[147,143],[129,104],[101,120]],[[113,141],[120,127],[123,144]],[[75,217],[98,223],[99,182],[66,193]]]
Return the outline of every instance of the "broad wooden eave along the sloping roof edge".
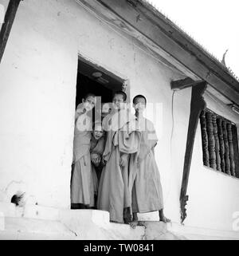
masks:
[[[239,83],[223,71],[217,63],[214,63],[210,57],[206,56],[200,46],[196,47],[195,42],[193,44],[192,40],[186,40],[185,33],[176,30],[172,26],[172,22],[163,18],[163,14],[161,14],[162,17],[159,17],[159,14],[156,15],[140,3],[137,4],[138,1],[131,1],[131,4],[126,0],[97,1],[116,14],[119,20],[130,25],[132,29],[137,30],[174,57],[186,69],[212,85],[223,96],[235,104],[239,104]],[[135,5],[132,5],[132,2],[135,2]],[[137,18],[139,16],[140,18]],[[112,22],[119,26],[119,20],[112,20]]]

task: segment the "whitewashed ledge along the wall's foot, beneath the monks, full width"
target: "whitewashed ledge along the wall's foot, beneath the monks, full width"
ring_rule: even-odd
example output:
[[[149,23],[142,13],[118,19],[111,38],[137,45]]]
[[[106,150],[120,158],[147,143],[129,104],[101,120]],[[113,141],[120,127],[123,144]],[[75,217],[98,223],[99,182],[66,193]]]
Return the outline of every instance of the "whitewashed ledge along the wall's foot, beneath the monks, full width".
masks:
[[[111,223],[108,211],[15,207],[13,203],[0,202],[0,239],[239,239],[239,232],[235,231],[166,224],[147,218],[143,224],[132,229],[126,224]]]

